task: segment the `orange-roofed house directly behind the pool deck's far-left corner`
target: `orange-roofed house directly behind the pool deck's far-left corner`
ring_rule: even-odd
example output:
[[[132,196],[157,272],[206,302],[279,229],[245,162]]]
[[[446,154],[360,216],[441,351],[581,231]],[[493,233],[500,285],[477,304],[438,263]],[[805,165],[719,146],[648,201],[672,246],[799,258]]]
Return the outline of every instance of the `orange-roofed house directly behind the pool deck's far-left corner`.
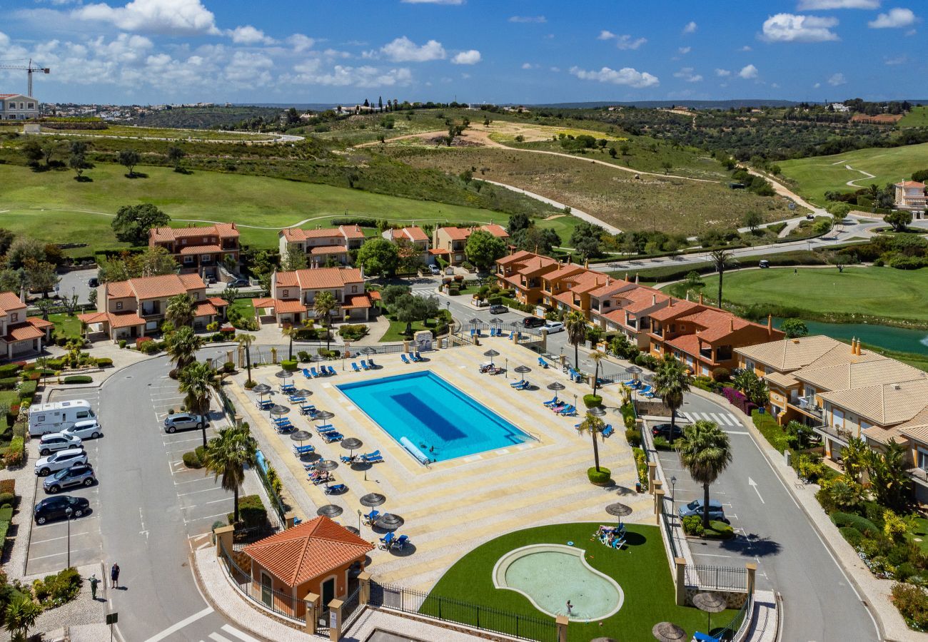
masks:
[[[316,267],[271,276],[273,297],[255,299],[255,312],[270,311],[277,325],[299,325],[315,316],[313,304],[319,292],[329,291],[338,304],[334,320],[367,321],[371,296],[365,291],[364,275],[354,267]]]

